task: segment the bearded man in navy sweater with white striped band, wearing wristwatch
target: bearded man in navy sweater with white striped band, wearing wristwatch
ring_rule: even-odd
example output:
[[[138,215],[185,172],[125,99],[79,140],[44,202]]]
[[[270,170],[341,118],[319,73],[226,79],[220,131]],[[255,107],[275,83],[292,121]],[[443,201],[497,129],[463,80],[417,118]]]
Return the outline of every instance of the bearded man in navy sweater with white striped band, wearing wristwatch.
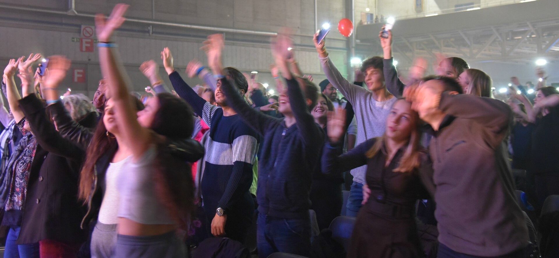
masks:
[[[219,106],[214,106],[198,96],[174,70],[169,48],[165,48],[161,56],[174,90],[210,126],[210,135],[202,143],[206,154],[199,187],[207,222],[211,222],[211,233],[244,243],[254,213],[249,188],[258,149],[257,133],[228,106],[219,81],[215,90]],[[248,84],[243,74],[233,67],[225,70],[227,76],[235,81],[239,94],[244,95]]]

